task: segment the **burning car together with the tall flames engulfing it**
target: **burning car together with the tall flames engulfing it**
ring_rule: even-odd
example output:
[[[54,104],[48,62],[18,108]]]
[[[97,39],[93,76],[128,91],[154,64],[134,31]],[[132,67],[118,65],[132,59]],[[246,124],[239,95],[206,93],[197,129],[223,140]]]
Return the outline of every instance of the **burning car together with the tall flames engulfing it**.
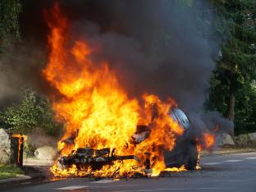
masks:
[[[65,125],[57,144],[60,156],[52,167],[55,176],[120,177],[150,170],[158,176],[167,167],[194,169],[194,127],[172,98],[163,101],[148,93],[131,98],[110,61],[94,59],[101,48],[71,38],[58,4],[48,11],[47,23],[43,76],[57,91],[53,110]]]

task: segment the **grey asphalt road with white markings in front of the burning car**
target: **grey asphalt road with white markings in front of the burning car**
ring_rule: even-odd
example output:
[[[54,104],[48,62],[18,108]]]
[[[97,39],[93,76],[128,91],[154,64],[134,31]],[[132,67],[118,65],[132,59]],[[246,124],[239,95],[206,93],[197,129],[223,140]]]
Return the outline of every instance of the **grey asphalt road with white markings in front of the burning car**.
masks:
[[[201,158],[200,171],[167,173],[165,177],[121,180],[72,178],[62,181],[12,185],[4,191],[251,191],[256,192],[256,153]]]

